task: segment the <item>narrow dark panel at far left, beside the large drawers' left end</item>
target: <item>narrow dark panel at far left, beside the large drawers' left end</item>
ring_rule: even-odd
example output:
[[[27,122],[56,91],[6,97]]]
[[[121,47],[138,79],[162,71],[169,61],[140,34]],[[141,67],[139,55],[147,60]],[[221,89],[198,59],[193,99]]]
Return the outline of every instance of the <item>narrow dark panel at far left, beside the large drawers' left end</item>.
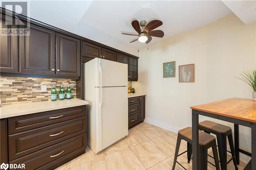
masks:
[[[0,164],[8,163],[8,151],[7,151],[7,119],[0,120]]]

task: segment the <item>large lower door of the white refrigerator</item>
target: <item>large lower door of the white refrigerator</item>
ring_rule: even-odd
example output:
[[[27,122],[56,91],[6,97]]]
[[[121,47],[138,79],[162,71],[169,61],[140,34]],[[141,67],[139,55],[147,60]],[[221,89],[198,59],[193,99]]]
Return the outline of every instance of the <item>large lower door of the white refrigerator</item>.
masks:
[[[96,87],[97,151],[128,135],[127,87]]]

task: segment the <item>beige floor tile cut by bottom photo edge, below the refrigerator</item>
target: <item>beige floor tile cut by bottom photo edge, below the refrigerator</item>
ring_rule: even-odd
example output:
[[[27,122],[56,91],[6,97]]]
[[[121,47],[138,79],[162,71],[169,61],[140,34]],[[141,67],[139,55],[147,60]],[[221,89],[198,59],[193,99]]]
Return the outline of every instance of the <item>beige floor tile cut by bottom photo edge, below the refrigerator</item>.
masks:
[[[106,168],[106,163],[104,158],[95,159],[93,161],[89,161],[87,163],[80,164],[78,166],[70,168],[70,170],[104,170]]]

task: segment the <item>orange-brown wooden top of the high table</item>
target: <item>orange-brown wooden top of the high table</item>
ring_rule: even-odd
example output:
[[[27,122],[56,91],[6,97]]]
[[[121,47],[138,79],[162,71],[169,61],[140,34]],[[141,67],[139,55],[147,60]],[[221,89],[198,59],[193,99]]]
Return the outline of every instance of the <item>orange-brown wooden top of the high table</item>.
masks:
[[[256,123],[256,101],[251,99],[232,98],[190,108]]]

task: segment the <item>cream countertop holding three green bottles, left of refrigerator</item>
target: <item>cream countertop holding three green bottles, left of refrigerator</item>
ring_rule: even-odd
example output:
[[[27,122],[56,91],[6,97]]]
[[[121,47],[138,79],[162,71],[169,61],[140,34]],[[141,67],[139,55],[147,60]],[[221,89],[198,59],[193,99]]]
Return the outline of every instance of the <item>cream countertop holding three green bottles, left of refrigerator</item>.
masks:
[[[11,105],[4,105],[0,108],[0,118],[7,118],[13,116],[20,116],[50,110],[64,109],[75,106],[88,105],[87,101],[80,99],[70,100],[57,100],[57,101],[46,101],[46,102],[28,102],[28,103],[15,103]]]

